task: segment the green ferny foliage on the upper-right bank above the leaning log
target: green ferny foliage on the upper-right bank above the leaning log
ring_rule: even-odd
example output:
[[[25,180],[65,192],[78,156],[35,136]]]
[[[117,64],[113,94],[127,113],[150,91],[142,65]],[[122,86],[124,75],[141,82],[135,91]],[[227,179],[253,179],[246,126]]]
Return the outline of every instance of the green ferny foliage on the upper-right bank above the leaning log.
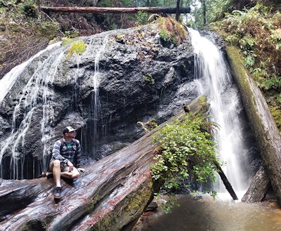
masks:
[[[257,4],[243,11],[226,13],[218,25],[230,44],[238,46],[244,55],[244,65],[263,90],[281,91],[281,15]]]

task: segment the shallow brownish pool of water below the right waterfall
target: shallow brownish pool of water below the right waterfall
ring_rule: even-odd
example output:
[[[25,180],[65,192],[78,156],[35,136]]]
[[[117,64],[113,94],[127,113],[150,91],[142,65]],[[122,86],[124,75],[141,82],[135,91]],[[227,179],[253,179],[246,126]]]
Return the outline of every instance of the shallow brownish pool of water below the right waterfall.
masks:
[[[281,209],[275,199],[247,204],[204,197],[202,202],[179,196],[171,213],[140,218],[133,231],[273,231],[281,230]],[[157,202],[159,204],[159,202]]]

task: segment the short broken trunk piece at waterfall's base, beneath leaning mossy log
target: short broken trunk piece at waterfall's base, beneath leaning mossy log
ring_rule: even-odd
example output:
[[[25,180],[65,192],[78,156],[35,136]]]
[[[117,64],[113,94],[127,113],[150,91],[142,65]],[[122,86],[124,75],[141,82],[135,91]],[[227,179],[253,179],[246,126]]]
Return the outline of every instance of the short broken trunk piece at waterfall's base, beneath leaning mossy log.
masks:
[[[270,180],[268,178],[268,173],[266,173],[265,167],[261,166],[241,201],[249,203],[261,202],[266,197],[269,187]]]

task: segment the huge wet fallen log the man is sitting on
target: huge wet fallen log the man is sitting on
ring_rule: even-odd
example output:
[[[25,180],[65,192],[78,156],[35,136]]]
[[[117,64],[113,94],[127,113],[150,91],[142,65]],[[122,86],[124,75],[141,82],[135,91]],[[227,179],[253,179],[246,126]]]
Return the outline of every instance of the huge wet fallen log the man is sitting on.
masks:
[[[189,108],[197,113],[207,104],[197,98]],[[184,117],[182,110],[169,121]],[[153,185],[150,176],[156,133],[157,128],[86,166],[86,173],[74,182],[62,180],[63,198],[58,203],[53,201],[53,179],[2,180],[1,230],[124,230],[141,216],[161,186]]]

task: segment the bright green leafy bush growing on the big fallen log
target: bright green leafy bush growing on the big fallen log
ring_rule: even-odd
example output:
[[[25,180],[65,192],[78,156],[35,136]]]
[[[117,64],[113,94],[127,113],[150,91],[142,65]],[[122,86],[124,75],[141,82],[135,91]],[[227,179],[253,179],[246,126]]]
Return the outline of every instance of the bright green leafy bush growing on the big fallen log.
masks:
[[[201,184],[215,182],[214,164],[219,163],[216,142],[211,136],[215,126],[200,114],[188,114],[184,121],[166,124],[155,137],[162,152],[155,155],[152,178],[163,180],[167,189],[177,189],[187,178]],[[204,192],[214,195],[209,186]]]

